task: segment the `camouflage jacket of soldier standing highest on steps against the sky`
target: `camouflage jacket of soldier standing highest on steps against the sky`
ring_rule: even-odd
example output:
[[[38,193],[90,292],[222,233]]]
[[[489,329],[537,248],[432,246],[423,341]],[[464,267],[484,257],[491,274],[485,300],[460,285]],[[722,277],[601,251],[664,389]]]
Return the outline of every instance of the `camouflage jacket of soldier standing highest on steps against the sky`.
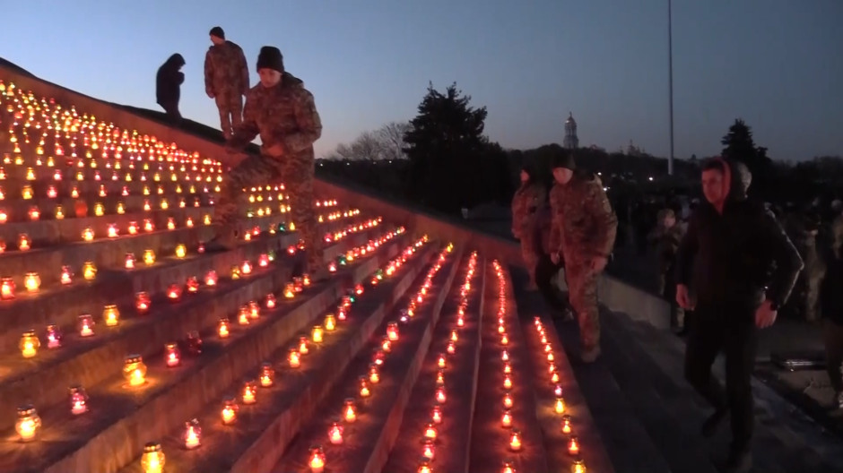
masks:
[[[248,65],[243,49],[231,41],[208,48],[204,55],[204,89],[213,97],[248,93]]]

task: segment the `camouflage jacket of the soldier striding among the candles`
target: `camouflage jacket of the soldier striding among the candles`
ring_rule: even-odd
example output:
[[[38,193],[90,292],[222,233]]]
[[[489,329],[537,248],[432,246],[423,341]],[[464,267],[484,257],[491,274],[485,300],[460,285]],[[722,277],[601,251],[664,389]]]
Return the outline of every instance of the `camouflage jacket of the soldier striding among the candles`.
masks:
[[[322,120],[313,95],[300,79],[284,73],[278,85],[258,83],[248,91],[243,122],[229,144],[244,148],[258,134],[266,148],[280,144],[283,159],[313,160],[313,143],[322,136]]]

